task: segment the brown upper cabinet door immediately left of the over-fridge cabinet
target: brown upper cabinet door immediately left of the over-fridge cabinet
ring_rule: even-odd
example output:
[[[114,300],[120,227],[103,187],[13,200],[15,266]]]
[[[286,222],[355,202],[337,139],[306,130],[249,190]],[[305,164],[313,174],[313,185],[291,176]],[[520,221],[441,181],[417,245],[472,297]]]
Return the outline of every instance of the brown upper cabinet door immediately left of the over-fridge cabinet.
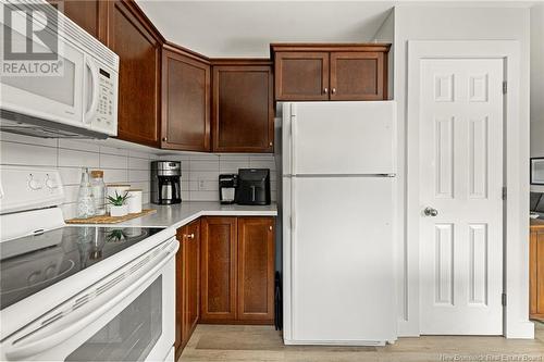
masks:
[[[213,66],[213,151],[272,152],[272,68]]]

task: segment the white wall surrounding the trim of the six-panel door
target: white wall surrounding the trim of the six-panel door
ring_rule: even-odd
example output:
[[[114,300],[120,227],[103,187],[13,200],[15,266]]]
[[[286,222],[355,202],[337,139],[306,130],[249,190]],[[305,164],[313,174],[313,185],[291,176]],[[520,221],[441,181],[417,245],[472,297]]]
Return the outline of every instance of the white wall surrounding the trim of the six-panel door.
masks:
[[[529,9],[524,8],[456,8],[429,5],[399,5],[395,8],[395,100],[398,104],[398,167],[399,185],[398,203],[406,210],[406,100],[407,100],[407,41],[408,40],[518,40],[520,42],[520,138],[521,154],[529,158]],[[529,170],[528,164],[519,165],[520,170]],[[520,175],[528,185],[528,172]],[[520,190],[521,203],[529,204],[529,187]],[[526,208],[527,209],[527,208]],[[398,220],[401,237],[398,249],[401,250],[401,288],[399,296],[399,333],[400,335],[419,334],[419,304],[409,295],[410,284],[417,280],[418,265],[411,265],[412,250],[406,244],[406,225],[408,215]],[[526,238],[527,239],[527,238]],[[416,296],[418,297],[418,296]],[[528,296],[519,296],[528,298]],[[521,307],[520,307],[521,308]],[[526,305],[527,309],[527,305]],[[522,310],[517,311],[520,320]],[[527,320],[527,315],[524,316]]]

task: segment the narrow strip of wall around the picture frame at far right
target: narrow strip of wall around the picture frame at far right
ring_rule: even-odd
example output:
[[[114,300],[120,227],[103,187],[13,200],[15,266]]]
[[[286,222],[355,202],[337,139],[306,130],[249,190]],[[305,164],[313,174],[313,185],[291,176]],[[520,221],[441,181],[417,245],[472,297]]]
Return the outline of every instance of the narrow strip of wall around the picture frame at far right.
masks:
[[[531,157],[544,157],[544,3],[531,8]]]

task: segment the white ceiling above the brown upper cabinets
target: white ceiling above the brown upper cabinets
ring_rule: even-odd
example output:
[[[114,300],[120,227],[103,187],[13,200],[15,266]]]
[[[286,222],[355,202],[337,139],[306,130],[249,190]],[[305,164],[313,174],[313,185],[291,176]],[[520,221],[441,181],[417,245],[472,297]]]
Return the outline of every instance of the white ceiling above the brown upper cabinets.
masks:
[[[276,41],[364,42],[392,1],[137,0],[170,41],[212,58],[268,58]]]

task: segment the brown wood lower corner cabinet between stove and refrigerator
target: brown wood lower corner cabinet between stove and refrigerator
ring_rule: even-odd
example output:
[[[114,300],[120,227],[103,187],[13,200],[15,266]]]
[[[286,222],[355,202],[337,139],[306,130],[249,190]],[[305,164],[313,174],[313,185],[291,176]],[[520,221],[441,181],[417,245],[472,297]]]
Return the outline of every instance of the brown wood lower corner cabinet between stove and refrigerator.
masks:
[[[207,216],[176,237],[176,360],[198,323],[273,324],[274,217]]]

